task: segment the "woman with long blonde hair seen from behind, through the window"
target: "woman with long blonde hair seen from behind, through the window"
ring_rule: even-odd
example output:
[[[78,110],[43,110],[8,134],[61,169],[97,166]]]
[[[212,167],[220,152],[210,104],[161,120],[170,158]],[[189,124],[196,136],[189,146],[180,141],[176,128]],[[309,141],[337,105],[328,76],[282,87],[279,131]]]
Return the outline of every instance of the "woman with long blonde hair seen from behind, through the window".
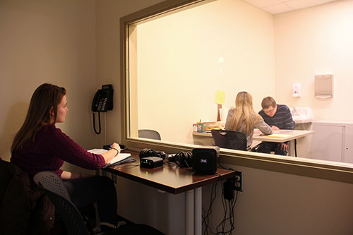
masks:
[[[253,97],[249,92],[239,92],[235,99],[235,107],[229,109],[225,129],[245,133],[246,146],[249,150],[253,143],[254,128],[258,128],[265,135],[272,134],[270,126],[253,110]]]

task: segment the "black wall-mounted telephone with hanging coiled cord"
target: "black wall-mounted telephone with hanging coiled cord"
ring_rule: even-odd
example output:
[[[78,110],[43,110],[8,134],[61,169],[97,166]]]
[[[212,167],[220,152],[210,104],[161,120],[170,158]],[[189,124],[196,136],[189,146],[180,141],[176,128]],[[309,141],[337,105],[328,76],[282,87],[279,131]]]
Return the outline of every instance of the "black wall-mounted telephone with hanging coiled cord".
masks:
[[[93,112],[93,129],[97,135],[100,134],[100,113],[107,112],[108,110],[113,109],[113,93],[114,90],[112,85],[102,85],[102,89],[97,90],[95,97],[92,101],[92,112]],[[95,129],[95,112],[98,112],[98,122],[99,122],[99,131]]]

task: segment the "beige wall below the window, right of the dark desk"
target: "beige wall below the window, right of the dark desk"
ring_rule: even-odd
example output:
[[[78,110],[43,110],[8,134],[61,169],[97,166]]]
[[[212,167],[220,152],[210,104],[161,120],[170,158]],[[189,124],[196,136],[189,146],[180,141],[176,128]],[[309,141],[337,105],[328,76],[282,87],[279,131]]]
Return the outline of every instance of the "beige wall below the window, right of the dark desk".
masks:
[[[234,207],[239,235],[353,234],[353,185],[274,171],[229,165],[244,172],[244,192]],[[220,185],[217,191],[221,192]],[[224,214],[221,195],[210,221]],[[210,186],[203,188],[203,207],[210,205]]]

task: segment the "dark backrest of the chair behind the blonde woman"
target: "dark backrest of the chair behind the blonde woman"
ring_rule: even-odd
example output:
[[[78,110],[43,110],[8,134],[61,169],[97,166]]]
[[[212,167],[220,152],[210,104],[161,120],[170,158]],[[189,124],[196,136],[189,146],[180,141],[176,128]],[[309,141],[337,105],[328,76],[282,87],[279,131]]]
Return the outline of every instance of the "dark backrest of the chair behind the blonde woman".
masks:
[[[212,130],[211,133],[218,147],[246,150],[246,135],[241,131]]]

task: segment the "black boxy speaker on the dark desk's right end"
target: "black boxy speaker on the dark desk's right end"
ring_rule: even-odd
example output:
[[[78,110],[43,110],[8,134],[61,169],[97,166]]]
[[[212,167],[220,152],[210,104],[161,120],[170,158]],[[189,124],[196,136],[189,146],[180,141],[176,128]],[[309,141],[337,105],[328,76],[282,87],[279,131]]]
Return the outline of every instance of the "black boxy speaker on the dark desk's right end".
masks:
[[[193,149],[193,171],[199,174],[215,174],[217,158],[220,156],[220,147],[203,146]]]

